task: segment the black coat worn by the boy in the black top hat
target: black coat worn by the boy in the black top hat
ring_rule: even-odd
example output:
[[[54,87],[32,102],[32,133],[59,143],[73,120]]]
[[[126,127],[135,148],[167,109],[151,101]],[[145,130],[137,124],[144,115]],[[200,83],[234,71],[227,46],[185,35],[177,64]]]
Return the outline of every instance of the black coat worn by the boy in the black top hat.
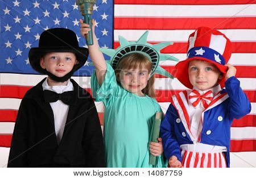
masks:
[[[58,145],[53,111],[44,101],[44,80],[28,90],[20,103],[8,167],[104,167],[104,143],[93,98],[71,79],[76,102],[69,106]]]

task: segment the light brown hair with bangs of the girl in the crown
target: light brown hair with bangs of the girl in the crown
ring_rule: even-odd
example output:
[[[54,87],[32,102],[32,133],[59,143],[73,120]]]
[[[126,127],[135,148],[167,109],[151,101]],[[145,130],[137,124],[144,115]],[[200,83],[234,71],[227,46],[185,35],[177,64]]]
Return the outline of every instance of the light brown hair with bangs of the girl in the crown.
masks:
[[[146,56],[141,53],[130,53],[124,56],[119,63],[117,64],[117,68],[115,69],[115,76],[119,76],[119,73],[122,69],[142,69],[146,68],[148,73],[151,72],[152,63],[147,59]],[[118,81],[119,82],[119,81]],[[152,76],[147,81],[147,86],[142,90],[143,94],[148,95],[149,97],[155,97],[155,89],[154,89],[155,77]]]

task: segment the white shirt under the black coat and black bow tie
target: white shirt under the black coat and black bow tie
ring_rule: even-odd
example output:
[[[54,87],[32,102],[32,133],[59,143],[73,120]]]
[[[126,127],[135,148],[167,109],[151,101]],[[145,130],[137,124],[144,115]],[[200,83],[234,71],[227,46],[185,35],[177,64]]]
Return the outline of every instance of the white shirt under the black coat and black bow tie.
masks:
[[[67,86],[49,86],[48,82],[46,81],[43,82],[43,90],[50,90],[54,91],[56,93],[64,93],[65,91],[73,91],[73,84],[70,80],[68,80]],[[64,128],[65,128],[65,123],[67,121],[67,116],[68,116],[68,109],[69,105],[64,104],[62,101],[58,100],[56,102],[51,102],[50,103],[54,115],[54,124],[55,124],[55,133],[57,137],[57,143],[60,144],[60,140],[63,136]]]

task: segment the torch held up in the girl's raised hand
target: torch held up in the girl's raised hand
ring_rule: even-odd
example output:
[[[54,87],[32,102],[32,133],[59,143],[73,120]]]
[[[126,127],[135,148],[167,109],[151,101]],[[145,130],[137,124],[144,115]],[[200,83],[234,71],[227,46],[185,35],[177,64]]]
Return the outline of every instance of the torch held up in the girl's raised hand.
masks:
[[[92,12],[96,0],[76,0],[79,5],[81,14],[84,16],[84,23],[90,25],[90,31],[85,34],[86,45],[93,45],[93,32],[92,32]]]

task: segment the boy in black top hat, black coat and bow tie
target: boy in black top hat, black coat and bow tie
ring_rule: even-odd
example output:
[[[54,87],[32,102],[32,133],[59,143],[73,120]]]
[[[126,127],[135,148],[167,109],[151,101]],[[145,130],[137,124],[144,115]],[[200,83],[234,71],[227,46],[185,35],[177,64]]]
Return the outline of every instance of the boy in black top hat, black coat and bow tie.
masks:
[[[93,98],[71,79],[88,49],[75,32],[52,28],[28,54],[47,74],[20,103],[8,167],[104,167],[104,144]]]

